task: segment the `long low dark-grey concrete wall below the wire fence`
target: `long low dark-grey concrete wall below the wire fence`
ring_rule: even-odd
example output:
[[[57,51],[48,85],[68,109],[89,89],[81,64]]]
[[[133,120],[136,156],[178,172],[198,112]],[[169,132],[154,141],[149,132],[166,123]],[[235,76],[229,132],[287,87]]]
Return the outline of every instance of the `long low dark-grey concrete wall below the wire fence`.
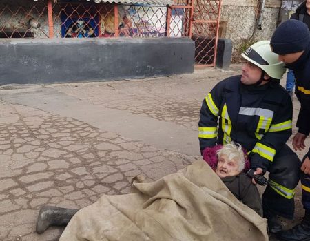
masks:
[[[118,80],[192,73],[194,42],[158,39],[0,41],[0,84]]]

